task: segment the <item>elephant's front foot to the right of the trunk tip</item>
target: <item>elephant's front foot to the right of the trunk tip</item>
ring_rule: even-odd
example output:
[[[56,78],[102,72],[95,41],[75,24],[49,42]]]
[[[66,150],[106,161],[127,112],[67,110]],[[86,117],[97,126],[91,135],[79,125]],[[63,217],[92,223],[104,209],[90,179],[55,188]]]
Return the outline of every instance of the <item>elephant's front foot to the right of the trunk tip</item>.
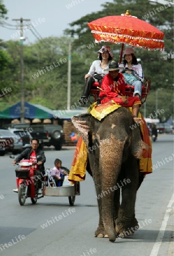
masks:
[[[131,221],[131,223],[128,222],[123,224],[121,222],[118,222],[118,218],[116,220],[116,233],[117,233],[117,236],[118,237],[126,237],[126,236],[133,236],[134,232],[137,231],[139,228],[139,225],[138,225],[138,221],[136,218],[134,218],[133,221]]]

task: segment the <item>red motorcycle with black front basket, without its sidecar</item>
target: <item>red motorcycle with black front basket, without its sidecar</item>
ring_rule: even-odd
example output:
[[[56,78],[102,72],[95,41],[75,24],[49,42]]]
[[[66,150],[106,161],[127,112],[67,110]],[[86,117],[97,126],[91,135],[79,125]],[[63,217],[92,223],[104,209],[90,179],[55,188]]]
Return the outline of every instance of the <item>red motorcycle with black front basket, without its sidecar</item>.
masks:
[[[36,204],[37,199],[44,197],[42,194],[39,194],[39,175],[35,175],[36,164],[28,159],[23,159],[15,164],[18,166],[15,169],[15,173],[20,205],[24,205],[28,197],[31,198],[32,204]]]

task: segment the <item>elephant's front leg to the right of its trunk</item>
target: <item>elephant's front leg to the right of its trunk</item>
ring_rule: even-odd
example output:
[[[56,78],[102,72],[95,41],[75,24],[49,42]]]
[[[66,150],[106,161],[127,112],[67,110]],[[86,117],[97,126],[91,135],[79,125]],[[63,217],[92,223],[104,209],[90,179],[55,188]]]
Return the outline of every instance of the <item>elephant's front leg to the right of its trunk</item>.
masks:
[[[135,200],[138,189],[139,171],[135,158],[129,159],[129,166],[124,166],[124,174],[129,183],[122,186],[122,202],[116,220],[116,232],[121,236],[133,234],[138,229],[138,221],[135,218]]]

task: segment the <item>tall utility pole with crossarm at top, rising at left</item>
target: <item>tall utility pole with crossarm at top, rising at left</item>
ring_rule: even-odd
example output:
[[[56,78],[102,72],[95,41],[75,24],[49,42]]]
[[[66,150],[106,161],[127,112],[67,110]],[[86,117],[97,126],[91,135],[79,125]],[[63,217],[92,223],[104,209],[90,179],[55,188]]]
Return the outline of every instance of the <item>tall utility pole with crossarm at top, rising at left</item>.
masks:
[[[30,19],[12,19],[16,21],[20,21],[20,122],[24,123],[24,59],[23,59],[23,41],[25,38],[23,37],[23,21],[29,21]]]

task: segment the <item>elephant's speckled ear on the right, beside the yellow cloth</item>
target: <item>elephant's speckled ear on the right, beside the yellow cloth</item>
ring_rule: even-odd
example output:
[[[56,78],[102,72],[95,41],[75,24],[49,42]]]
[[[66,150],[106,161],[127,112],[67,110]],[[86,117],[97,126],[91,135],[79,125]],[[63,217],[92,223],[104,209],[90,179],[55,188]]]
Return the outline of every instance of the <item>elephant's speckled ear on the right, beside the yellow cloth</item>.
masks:
[[[143,153],[143,149],[148,150],[149,146],[142,141],[141,131],[138,126],[132,129],[131,132],[131,153],[135,156],[135,158],[140,159]]]

